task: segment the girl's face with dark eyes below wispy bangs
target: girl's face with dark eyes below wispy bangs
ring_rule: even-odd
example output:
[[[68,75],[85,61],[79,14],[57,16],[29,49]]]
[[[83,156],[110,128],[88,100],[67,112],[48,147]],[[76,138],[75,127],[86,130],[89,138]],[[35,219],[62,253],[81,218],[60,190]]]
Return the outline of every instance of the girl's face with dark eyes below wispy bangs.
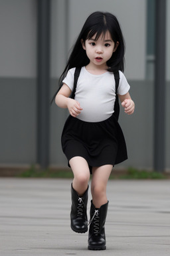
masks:
[[[95,40],[95,37],[96,35],[87,39],[85,43],[82,40],[82,47],[86,50],[90,65],[106,69],[106,62],[112,57],[119,43],[114,43],[109,31],[106,32],[105,36],[100,35],[98,40]]]

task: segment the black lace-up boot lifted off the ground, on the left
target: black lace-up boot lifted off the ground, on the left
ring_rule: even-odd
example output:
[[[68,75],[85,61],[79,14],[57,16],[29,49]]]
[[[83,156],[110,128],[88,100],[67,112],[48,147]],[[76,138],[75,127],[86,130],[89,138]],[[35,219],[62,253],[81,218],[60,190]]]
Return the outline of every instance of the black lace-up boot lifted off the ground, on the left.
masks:
[[[87,203],[88,188],[82,197],[71,187],[72,207],[71,207],[71,228],[76,233],[86,233],[88,231]]]

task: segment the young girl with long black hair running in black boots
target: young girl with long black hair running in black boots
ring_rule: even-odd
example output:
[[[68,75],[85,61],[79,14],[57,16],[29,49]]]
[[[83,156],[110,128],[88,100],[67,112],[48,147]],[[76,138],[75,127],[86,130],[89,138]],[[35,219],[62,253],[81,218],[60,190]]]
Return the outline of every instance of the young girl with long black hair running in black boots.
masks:
[[[81,71],[72,99],[76,67],[81,67]],[[106,186],[113,166],[127,159],[124,135],[114,115],[116,71],[120,76],[118,96],[125,112],[131,115],[135,105],[122,73],[124,38],[120,25],[111,13],[92,13],[82,27],[60,77],[60,89],[54,95],[56,105],[68,108],[70,113],[62,131],[62,149],[74,173],[71,228],[85,233],[90,224],[88,249],[92,250],[106,249]],[[88,223],[90,174],[92,201]]]

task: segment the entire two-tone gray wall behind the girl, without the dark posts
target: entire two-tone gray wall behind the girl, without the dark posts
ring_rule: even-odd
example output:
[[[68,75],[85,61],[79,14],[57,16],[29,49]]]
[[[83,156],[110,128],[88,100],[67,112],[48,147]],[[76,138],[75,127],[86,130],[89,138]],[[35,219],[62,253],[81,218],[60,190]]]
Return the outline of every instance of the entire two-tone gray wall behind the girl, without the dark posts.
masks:
[[[167,0],[170,9],[170,0]],[[58,87],[70,46],[92,11],[118,16],[126,39],[126,77],[136,105],[131,116],[122,111],[120,123],[128,145],[128,161],[119,167],[153,167],[153,81],[145,79],[146,1],[143,0],[52,0],[51,83]],[[0,164],[31,165],[37,161],[37,10],[34,0],[0,1]],[[129,19],[130,17],[130,19]],[[167,18],[170,26],[169,16]],[[167,29],[169,56],[169,30]],[[167,58],[167,71],[169,70]],[[167,72],[169,81],[169,73]],[[170,169],[170,83],[167,82],[166,167]],[[49,99],[50,100],[50,99]],[[66,165],[60,135],[68,115],[50,107],[50,165]]]

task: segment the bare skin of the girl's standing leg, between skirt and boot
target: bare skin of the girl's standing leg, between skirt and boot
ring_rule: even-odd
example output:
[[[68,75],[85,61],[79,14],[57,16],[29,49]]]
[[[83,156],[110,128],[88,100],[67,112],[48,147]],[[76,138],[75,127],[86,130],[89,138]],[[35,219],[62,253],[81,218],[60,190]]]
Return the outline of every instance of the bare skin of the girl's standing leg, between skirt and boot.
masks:
[[[96,208],[108,202],[106,187],[112,168],[112,165],[102,165],[92,169],[92,201]]]

